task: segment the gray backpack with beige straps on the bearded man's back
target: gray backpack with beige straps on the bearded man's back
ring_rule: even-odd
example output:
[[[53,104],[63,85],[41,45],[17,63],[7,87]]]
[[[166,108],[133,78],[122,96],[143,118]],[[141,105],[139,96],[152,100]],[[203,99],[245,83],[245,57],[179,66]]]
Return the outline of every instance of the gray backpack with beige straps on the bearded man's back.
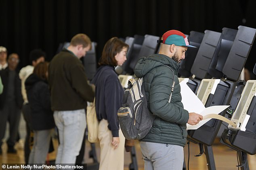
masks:
[[[143,139],[153,125],[155,116],[147,107],[143,78],[130,79],[118,110],[120,128],[126,139]]]

